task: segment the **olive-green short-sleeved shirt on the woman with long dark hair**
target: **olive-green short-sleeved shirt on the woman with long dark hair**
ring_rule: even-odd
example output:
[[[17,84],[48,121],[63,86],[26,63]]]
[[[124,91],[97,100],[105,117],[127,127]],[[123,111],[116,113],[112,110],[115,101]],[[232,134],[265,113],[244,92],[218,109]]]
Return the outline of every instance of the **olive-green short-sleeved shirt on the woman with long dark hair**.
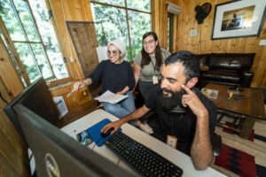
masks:
[[[163,63],[164,63],[164,60],[168,58],[168,56],[170,56],[171,53],[168,50],[163,49],[163,48],[160,48],[160,50],[161,50],[161,55],[162,55]],[[161,67],[160,67],[160,71],[157,71],[156,69],[154,70],[154,66],[156,65],[156,58],[151,55],[150,57],[153,62],[150,62],[149,65],[144,65],[144,67],[142,68],[140,72],[140,76],[139,76],[140,81],[153,81],[153,75],[157,76],[159,80],[161,79],[161,75],[160,75]],[[142,55],[140,51],[137,53],[135,57],[134,64],[140,66],[141,59],[142,59]]]

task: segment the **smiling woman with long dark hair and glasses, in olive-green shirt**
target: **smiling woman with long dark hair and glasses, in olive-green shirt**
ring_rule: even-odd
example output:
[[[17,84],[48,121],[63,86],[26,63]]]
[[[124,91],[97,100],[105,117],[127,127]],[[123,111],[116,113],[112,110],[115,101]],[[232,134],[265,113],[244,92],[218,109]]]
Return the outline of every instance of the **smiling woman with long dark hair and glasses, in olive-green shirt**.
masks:
[[[134,75],[137,86],[145,100],[153,93],[152,89],[160,88],[160,71],[164,60],[170,52],[160,48],[158,37],[154,32],[148,32],[142,38],[143,47],[134,60]],[[136,87],[135,86],[135,87]]]

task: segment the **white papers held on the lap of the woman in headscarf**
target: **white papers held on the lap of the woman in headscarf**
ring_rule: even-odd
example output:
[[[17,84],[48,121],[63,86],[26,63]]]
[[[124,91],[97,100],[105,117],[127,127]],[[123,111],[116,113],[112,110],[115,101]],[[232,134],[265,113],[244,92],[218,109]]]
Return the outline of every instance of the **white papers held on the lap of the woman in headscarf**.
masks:
[[[124,96],[124,95],[115,95],[111,91],[107,90],[104,94],[102,94],[101,96],[98,96],[94,99],[98,100],[99,102],[108,102],[111,104],[117,104],[121,100],[123,100],[127,97],[128,96]]]

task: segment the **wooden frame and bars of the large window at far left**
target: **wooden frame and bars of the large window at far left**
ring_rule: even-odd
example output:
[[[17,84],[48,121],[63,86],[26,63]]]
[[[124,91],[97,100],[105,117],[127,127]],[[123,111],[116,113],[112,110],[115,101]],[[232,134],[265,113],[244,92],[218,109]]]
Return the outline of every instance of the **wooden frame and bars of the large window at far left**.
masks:
[[[59,83],[66,82],[66,81],[72,81],[73,79],[72,79],[72,76],[71,76],[70,68],[69,68],[69,66],[67,65],[67,62],[66,62],[66,57],[65,57],[65,56],[66,56],[66,52],[65,52],[65,50],[63,50],[62,42],[61,42],[61,40],[60,40],[60,38],[59,38],[59,31],[58,31],[58,28],[56,27],[55,21],[54,21],[54,19],[53,19],[53,15],[52,15],[52,12],[51,12],[51,7],[50,7],[49,2],[47,2],[47,0],[44,1],[45,4],[46,4],[46,6],[47,6],[47,11],[49,12],[49,15],[50,15],[50,16],[49,16],[49,19],[51,20],[51,25],[52,25],[53,30],[54,30],[54,33],[55,33],[55,35],[56,35],[57,41],[58,41],[58,43],[59,43],[59,50],[60,50],[60,53],[61,53],[61,55],[62,55],[62,58],[63,58],[63,61],[64,61],[64,65],[65,65],[65,67],[66,67],[66,72],[67,72],[67,74],[68,74],[68,77],[66,77],[66,78],[62,78],[62,79],[56,79],[55,73],[54,73],[53,68],[52,68],[52,66],[51,66],[50,58],[49,58],[49,56],[48,56],[48,54],[47,54],[46,47],[45,47],[45,45],[44,45],[44,43],[43,43],[42,35],[40,34],[39,28],[38,28],[38,26],[37,26],[37,24],[36,24],[35,16],[34,16],[34,14],[33,14],[33,12],[32,12],[32,8],[31,8],[29,2],[28,2],[28,1],[24,1],[25,3],[27,3],[27,7],[28,7],[28,10],[29,10],[28,12],[29,12],[30,18],[32,19],[33,25],[35,26],[35,32],[36,32],[36,34],[38,35],[40,42],[31,42],[31,41],[27,38],[27,32],[25,31],[25,28],[24,28],[23,25],[22,25],[22,21],[21,21],[21,19],[20,19],[20,15],[19,15],[19,13],[18,13],[18,11],[17,11],[17,8],[16,8],[16,6],[14,5],[13,0],[10,0],[10,1],[11,1],[11,3],[12,3],[12,4],[11,4],[11,5],[12,5],[12,9],[14,10],[14,13],[15,13],[15,18],[18,19],[18,22],[19,22],[19,25],[20,25],[20,27],[21,27],[21,30],[23,31],[23,35],[25,35],[25,37],[26,37],[26,41],[23,41],[23,43],[27,43],[27,45],[28,45],[28,47],[29,47],[29,50],[31,51],[31,56],[32,56],[33,59],[35,60],[36,66],[37,66],[37,68],[38,68],[38,73],[39,73],[41,76],[43,76],[43,73],[40,71],[39,65],[37,64],[37,61],[36,61],[36,58],[35,58],[35,53],[34,53],[32,47],[31,47],[31,44],[32,44],[32,43],[38,43],[38,44],[41,44],[42,47],[43,47],[43,54],[44,54],[44,57],[46,58],[47,63],[48,63],[48,65],[49,65],[49,67],[50,67],[50,69],[51,69],[51,73],[52,73],[51,77],[45,79],[47,85],[52,86],[52,85],[57,85],[57,84],[59,84]],[[3,21],[2,19],[1,19],[1,22],[3,22],[3,23],[0,24],[0,25],[3,26],[3,25],[4,25],[4,21]],[[4,27],[0,27],[0,29],[1,29],[1,31],[3,32],[4,38],[5,38],[4,40],[5,40],[6,42],[8,42],[8,45],[9,45],[8,48],[11,49],[12,55],[14,56],[14,59],[15,59],[15,62],[17,62],[17,64],[18,64],[18,67],[19,67],[19,70],[20,70],[20,71],[17,71],[17,72],[18,72],[18,73],[21,73],[20,77],[23,77],[23,80],[26,82],[26,85],[28,86],[28,85],[30,84],[30,81],[29,81],[29,78],[28,78],[27,72],[26,72],[24,66],[22,65],[22,61],[21,61],[21,59],[20,59],[20,55],[17,53],[17,50],[16,50],[16,48],[15,48],[15,46],[14,46],[14,43],[15,43],[15,42],[18,42],[18,43],[19,43],[19,42],[22,42],[22,41],[12,41],[12,38],[11,38],[11,36],[9,35],[9,32],[8,32],[8,30],[6,29],[5,25],[4,25]],[[11,61],[11,62],[13,62],[13,61]],[[55,80],[54,80],[54,79],[55,79]],[[22,80],[22,78],[21,78],[21,80]]]

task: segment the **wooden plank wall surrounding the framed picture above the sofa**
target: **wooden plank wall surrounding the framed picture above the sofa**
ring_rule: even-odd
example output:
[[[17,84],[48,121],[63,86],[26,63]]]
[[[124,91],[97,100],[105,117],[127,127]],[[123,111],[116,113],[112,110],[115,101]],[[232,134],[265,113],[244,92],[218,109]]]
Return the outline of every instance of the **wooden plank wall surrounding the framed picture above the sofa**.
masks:
[[[228,2],[228,0],[179,0],[177,5],[182,8],[178,15],[178,25],[176,26],[176,48],[174,50],[190,50],[194,53],[255,53],[253,87],[266,88],[266,46],[260,46],[259,42],[266,39],[266,22],[259,37],[233,38],[223,40],[211,40],[213,20],[215,13],[215,4]],[[212,4],[212,11],[204,19],[204,23],[198,25],[195,19],[195,7],[205,3]],[[165,26],[162,26],[165,27]],[[191,36],[191,30],[197,29],[198,35]],[[175,46],[175,45],[174,45]]]

